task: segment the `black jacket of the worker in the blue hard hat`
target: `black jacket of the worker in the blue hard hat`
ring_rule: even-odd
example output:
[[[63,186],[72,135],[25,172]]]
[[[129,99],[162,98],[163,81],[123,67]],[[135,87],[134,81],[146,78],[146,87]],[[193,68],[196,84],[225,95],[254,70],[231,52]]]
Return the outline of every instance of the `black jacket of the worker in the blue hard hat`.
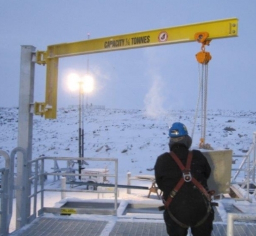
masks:
[[[183,145],[172,149],[186,166],[189,149]],[[207,179],[211,174],[211,167],[205,156],[199,150],[192,150],[191,174],[208,191]],[[171,190],[176,186],[182,172],[168,152],[161,154],[155,165],[156,182],[163,191],[163,198],[167,200]],[[184,224],[195,224],[207,212],[208,202],[201,191],[192,182],[185,182],[173,198],[169,209],[171,213]]]

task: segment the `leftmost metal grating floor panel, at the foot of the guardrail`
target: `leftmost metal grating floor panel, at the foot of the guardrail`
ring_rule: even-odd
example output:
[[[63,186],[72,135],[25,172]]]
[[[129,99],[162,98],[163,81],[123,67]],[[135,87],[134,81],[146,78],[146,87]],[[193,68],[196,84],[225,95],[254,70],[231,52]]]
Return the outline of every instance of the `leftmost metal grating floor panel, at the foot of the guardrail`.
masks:
[[[99,236],[107,221],[37,218],[17,236]]]

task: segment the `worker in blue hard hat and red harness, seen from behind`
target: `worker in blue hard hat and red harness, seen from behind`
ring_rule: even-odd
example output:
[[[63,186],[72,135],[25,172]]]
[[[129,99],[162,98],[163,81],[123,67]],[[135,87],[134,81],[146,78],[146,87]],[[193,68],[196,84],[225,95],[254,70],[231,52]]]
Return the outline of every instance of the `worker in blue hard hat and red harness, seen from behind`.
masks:
[[[163,218],[169,236],[211,236],[214,210],[207,179],[211,167],[199,150],[190,151],[192,139],[183,123],[169,129],[170,152],[161,154],[155,164],[155,177],[163,192]]]

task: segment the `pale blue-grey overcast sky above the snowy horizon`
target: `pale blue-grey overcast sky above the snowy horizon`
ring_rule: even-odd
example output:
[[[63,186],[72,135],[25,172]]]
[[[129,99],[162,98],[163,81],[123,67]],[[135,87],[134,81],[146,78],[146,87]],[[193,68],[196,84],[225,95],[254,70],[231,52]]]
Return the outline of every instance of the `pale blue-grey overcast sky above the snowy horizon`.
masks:
[[[255,0],[0,0],[0,106],[18,106],[21,45],[48,45],[237,17],[239,37],[207,47],[208,109],[256,111]],[[107,108],[194,109],[196,42],[60,59],[58,107],[78,104],[71,71],[95,76],[88,102]],[[45,96],[45,67],[35,67],[34,101]]]

